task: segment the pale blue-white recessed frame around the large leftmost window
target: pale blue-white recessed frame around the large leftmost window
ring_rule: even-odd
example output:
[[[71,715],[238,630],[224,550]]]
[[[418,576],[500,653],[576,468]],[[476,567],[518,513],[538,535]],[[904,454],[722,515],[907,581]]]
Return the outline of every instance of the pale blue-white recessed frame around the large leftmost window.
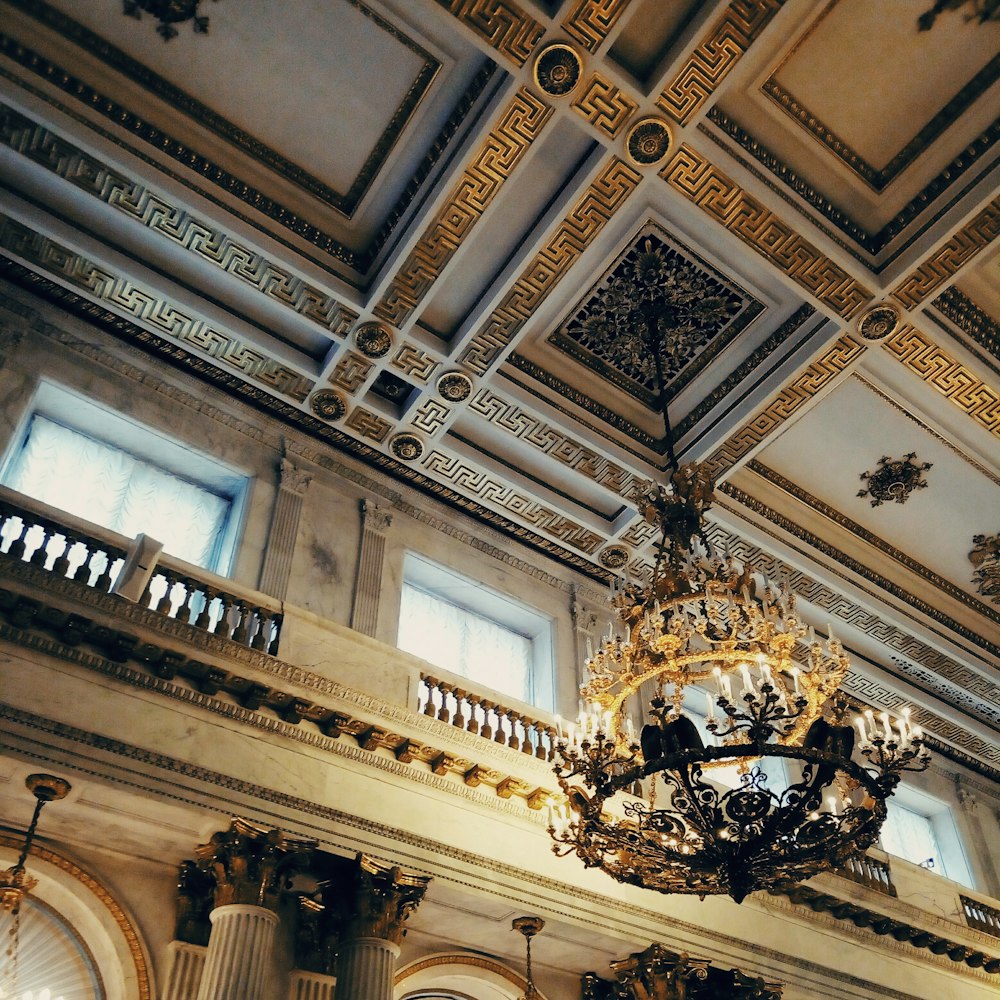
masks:
[[[249,508],[252,482],[249,475],[186,441],[167,436],[156,427],[66,386],[41,379],[0,461],[0,482],[7,482],[24,451],[36,416],[227,500],[229,514],[216,537],[211,558],[201,568],[217,576],[231,575]]]

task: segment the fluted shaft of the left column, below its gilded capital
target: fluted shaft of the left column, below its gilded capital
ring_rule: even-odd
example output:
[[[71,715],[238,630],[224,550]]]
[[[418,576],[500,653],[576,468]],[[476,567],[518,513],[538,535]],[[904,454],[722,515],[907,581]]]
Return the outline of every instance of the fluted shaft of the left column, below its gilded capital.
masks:
[[[198,1000],[264,1000],[278,915],[229,903],[212,910],[212,936]]]

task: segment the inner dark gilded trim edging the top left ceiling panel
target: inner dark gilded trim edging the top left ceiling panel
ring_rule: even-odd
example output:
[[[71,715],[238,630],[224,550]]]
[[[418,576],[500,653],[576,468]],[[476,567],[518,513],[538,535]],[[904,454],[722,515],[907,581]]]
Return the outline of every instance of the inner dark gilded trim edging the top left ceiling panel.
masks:
[[[382,169],[389,152],[395,146],[403,129],[406,127],[417,105],[421,102],[428,88],[437,76],[441,64],[426,49],[409,38],[395,25],[386,21],[374,10],[366,7],[360,0],[347,2],[369,18],[382,31],[392,35],[400,44],[413,52],[421,61],[421,67],[411,82],[407,93],[399,106],[393,112],[389,123],[379,136],[364,164],[359,170],[350,188],[346,192],[338,192],[311,175],[298,164],[287,160],[280,153],[271,149],[259,139],[234,125],[222,115],[217,114],[201,101],[185,91],[175,87],[162,76],[154,73],[147,66],[132,59],[121,49],[112,45],[100,35],[90,31],[82,24],[67,17],[62,12],[43,3],[42,0],[18,0],[18,6],[28,15],[51,28],[60,36],[87,52],[96,56],[113,70],[121,73],[135,84],[138,84],[151,94],[165,101],[170,107],[176,108],[204,129],[231,143],[242,150],[258,163],[265,165],[276,174],[291,181],[314,198],[350,217],[357,208],[372,181]]]

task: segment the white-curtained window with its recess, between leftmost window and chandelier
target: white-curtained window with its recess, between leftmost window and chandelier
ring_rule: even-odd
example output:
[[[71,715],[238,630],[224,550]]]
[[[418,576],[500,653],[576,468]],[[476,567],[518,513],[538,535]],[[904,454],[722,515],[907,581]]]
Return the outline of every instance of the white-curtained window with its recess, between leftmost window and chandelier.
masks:
[[[552,704],[551,620],[466,577],[407,555],[397,645],[518,701]]]

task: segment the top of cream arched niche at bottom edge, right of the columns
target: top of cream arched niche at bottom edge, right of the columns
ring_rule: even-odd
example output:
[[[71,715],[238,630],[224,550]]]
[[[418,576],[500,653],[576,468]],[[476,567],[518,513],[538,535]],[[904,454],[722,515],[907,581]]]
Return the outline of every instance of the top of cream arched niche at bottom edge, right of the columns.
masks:
[[[394,1000],[518,1000],[528,981],[485,955],[449,952],[418,959],[393,980]],[[539,1000],[545,1000],[538,993]]]

